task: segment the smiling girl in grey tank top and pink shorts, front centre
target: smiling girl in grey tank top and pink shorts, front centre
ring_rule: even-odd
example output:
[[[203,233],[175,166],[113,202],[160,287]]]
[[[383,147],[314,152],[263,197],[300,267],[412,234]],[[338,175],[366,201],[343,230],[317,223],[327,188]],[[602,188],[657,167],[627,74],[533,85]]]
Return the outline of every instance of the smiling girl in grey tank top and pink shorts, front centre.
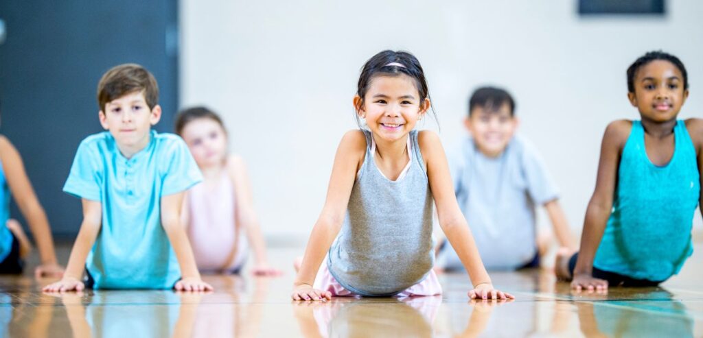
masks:
[[[367,129],[349,131],[337,149],[292,299],[441,293],[432,271],[433,201],[469,273],[469,297],[514,298],[491,284],[456,202],[439,137],[414,130],[430,109],[418,60],[406,52],[376,54],[364,65],[356,94],[354,108]]]

